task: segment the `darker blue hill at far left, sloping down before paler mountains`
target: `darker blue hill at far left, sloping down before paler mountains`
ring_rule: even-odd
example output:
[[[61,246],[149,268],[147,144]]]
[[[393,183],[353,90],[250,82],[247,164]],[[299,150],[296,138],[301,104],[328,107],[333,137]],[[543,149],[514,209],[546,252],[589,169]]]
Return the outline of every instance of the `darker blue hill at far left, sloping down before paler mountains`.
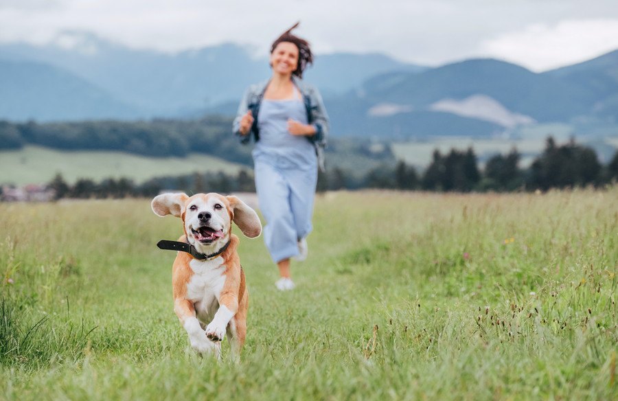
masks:
[[[135,109],[77,76],[36,62],[0,60],[0,117],[129,118]]]

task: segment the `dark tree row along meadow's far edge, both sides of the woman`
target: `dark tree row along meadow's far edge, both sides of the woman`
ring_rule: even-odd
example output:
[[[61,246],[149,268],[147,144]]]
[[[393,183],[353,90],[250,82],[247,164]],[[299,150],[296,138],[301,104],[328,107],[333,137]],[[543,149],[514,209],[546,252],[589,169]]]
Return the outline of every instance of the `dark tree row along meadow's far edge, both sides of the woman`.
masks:
[[[520,154],[513,149],[508,154],[492,157],[481,170],[473,148],[452,149],[447,154],[435,150],[433,161],[422,173],[403,161],[374,168],[360,179],[352,172],[334,168],[319,174],[318,191],[361,188],[436,192],[545,191],[599,187],[618,181],[618,151],[610,163],[602,165],[594,150],[573,140],[559,146],[549,137],[545,150],[529,168],[520,168],[519,161]],[[187,194],[255,191],[253,173],[249,169],[238,174],[209,172],[159,177],[140,185],[129,179],[106,179],[100,183],[80,179],[69,185],[57,174],[49,187],[56,192],[56,198],[150,197],[163,190],[181,190]]]

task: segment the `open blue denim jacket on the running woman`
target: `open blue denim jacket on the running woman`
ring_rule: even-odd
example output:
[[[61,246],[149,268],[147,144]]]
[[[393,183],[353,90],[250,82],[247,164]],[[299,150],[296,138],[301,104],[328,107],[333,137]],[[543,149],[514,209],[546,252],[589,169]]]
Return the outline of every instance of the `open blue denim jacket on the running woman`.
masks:
[[[324,148],[326,146],[326,139],[328,137],[328,115],[322,102],[320,93],[312,87],[310,84],[306,84],[296,76],[292,77],[294,84],[300,91],[303,97],[303,103],[307,110],[307,121],[314,126],[315,135],[307,137],[315,147],[315,153],[317,154],[318,165],[320,170],[324,171]],[[238,106],[238,113],[233,122],[233,132],[240,137],[242,144],[248,144],[251,135],[240,134],[240,119],[243,115],[247,114],[247,111],[251,110],[253,115],[253,125],[251,126],[251,133],[255,141],[260,140],[260,129],[258,128],[258,113],[260,112],[260,104],[264,97],[264,91],[266,91],[266,85],[268,81],[260,82],[259,84],[251,85],[247,91],[245,91],[240,106]]]

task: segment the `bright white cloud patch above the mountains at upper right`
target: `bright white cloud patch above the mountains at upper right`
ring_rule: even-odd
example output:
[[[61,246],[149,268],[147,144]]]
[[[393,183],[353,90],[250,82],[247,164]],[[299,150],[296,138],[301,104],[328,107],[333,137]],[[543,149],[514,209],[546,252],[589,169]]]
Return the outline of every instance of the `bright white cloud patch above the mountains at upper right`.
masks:
[[[618,49],[618,19],[536,23],[481,44],[481,53],[533,71],[575,64]]]

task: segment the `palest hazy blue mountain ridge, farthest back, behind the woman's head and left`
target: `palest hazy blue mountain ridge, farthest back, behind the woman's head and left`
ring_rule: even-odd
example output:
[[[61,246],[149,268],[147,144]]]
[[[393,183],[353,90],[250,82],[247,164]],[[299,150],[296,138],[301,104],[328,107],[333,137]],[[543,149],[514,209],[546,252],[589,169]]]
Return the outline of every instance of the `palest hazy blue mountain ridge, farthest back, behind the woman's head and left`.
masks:
[[[65,35],[55,45],[0,45],[0,59],[71,71],[135,106],[139,110],[135,117],[203,113],[222,102],[238,102],[249,84],[270,76],[268,54],[255,58],[250,49],[231,43],[164,54],[129,49],[84,32]],[[66,41],[71,41],[70,48],[62,45]],[[348,91],[376,73],[422,69],[379,54],[329,54],[316,59],[319,62],[309,67],[306,76],[331,94]]]

